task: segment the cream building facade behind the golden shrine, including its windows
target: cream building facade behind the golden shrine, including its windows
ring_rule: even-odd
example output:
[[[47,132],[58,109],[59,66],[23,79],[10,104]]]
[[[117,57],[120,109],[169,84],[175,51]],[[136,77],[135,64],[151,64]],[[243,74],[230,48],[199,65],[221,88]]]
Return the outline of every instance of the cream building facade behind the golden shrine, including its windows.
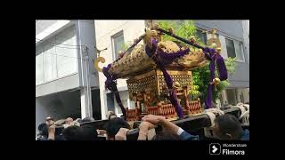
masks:
[[[101,56],[106,62],[99,66],[106,67],[118,58],[118,51],[123,50],[123,44],[132,44],[134,38],[144,34],[145,20],[95,20],[96,42],[99,50],[106,48],[101,52]],[[142,42],[141,42],[142,43]],[[104,83],[106,77],[99,73],[100,97],[102,108],[102,119],[105,119],[108,110],[114,111],[121,115],[114,95],[106,91]],[[118,91],[125,108],[134,108],[133,101],[128,99],[128,91],[126,87],[126,79],[118,79]]]

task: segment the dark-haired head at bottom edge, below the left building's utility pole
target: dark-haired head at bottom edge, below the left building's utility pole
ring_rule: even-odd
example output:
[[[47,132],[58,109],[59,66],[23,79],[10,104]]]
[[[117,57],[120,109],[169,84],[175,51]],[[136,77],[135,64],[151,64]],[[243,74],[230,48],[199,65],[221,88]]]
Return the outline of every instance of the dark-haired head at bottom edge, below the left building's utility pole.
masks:
[[[93,126],[72,125],[62,132],[65,140],[96,140],[97,132]]]

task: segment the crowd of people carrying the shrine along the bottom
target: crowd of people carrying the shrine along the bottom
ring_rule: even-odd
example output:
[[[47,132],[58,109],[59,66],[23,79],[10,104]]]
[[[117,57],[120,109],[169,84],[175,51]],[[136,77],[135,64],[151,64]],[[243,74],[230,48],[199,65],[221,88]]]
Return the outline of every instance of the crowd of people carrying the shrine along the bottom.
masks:
[[[81,125],[95,121],[90,117],[82,120],[69,117],[56,122],[52,117],[47,117],[45,123],[38,126],[36,140],[102,140],[100,137],[105,137],[104,140],[126,140],[127,133],[134,128],[139,130],[137,140],[200,140],[199,135],[185,132],[164,116],[143,116],[139,124],[132,126],[111,111],[107,117],[108,123],[104,129]],[[162,127],[162,132],[155,132],[158,126]],[[219,140],[249,140],[249,131],[243,130],[239,119],[230,114],[216,117],[213,132]]]

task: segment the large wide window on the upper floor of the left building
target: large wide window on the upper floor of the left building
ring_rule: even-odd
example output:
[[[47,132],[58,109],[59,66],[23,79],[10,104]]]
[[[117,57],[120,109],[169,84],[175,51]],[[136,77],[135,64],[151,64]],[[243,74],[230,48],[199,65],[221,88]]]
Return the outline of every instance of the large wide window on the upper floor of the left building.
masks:
[[[36,46],[36,85],[74,73],[77,73],[77,37],[73,26]]]

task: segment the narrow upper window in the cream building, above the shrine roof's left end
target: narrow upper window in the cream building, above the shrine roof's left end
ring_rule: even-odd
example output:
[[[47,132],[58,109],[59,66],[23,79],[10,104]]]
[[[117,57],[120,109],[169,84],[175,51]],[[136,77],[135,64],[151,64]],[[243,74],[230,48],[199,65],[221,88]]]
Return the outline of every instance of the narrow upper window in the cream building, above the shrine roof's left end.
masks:
[[[111,36],[111,38],[112,38],[112,44],[113,44],[113,55],[114,55],[113,57],[114,57],[114,60],[117,60],[118,52],[123,51],[123,45],[125,43],[124,32],[120,31],[114,36]]]

